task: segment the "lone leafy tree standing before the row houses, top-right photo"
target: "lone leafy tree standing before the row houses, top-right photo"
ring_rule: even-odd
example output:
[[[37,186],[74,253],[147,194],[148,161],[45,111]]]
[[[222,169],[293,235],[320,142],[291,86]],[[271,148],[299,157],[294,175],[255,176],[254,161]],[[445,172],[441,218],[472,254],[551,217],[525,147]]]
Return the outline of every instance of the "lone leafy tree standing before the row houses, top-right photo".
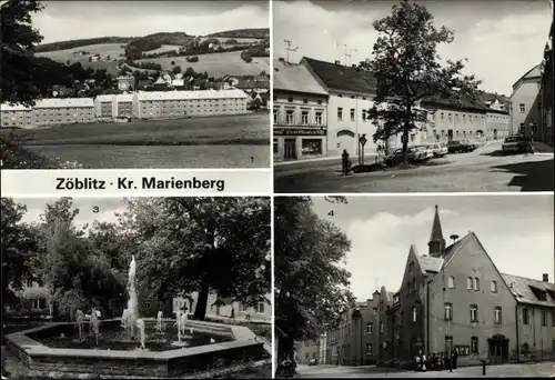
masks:
[[[408,134],[425,123],[430,111],[420,107],[431,97],[474,97],[480,84],[464,76],[462,60],[441,62],[437,44],[451,43],[454,32],[433,23],[424,6],[406,0],[393,6],[392,14],[374,22],[379,38],[373,60],[364,62],[377,82],[369,118],[377,127],[374,141],[402,133],[404,162],[407,162]],[[433,110],[432,110],[433,112]]]

